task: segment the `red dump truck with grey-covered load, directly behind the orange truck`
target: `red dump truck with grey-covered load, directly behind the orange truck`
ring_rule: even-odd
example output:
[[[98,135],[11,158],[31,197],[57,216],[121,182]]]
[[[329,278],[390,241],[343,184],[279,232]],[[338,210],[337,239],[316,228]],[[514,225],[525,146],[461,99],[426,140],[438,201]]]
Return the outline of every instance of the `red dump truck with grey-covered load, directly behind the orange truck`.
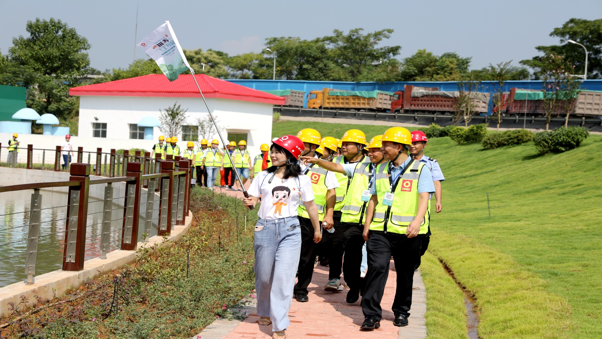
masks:
[[[417,87],[404,85],[403,90],[398,90],[393,95],[391,112],[402,110],[454,112],[457,90],[439,90],[439,87]],[[476,104],[475,112],[487,113],[489,93],[472,92],[473,102]]]

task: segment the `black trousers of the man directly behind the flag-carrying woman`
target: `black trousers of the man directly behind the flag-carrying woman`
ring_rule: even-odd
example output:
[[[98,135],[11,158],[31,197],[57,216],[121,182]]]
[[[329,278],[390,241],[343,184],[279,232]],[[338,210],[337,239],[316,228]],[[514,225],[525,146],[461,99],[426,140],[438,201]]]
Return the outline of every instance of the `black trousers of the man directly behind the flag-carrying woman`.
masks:
[[[299,217],[301,225],[301,256],[297,268],[297,284],[293,289],[294,294],[308,294],[307,287],[314,274],[315,255],[318,252],[318,244],[314,242],[314,226],[308,218]]]

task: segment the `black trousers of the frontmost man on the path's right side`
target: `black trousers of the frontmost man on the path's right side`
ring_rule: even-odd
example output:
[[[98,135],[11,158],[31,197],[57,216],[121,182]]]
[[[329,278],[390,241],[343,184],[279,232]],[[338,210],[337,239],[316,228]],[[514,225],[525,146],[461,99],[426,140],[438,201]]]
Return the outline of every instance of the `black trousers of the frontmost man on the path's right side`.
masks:
[[[362,294],[364,316],[374,315],[382,318],[380,301],[389,276],[391,256],[397,271],[397,285],[393,300],[393,313],[409,316],[412,306],[412,284],[414,283],[414,265],[420,256],[421,238],[370,233],[366,249],[368,251],[368,273]]]

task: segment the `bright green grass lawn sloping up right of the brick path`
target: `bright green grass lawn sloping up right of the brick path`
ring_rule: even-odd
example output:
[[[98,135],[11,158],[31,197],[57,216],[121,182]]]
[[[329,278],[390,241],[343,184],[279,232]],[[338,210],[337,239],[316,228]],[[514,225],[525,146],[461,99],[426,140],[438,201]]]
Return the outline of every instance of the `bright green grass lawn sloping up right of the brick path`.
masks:
[[[310,124],[332,136],[360,128],[371,138],[386,130],[282,121],[275,122],[273,136],[294,135]],[[439,161],[447,179],[443,211],[432,216],[429,250],[476,297],[479,337],[601,338],[602,136],[545,156],[532,142],[482,150],[436,138],[425,154]],[[452,328],[465,322],[461,299],[453,297],[457,287],[429,261],[424,258],[427,300],[442,300],[439,306],[427,301],[429,338],[445,337],[445,331],[456,337]],[[447,294],[439,291],[446,287]],[[441,332],[442,324],[450,329]]]

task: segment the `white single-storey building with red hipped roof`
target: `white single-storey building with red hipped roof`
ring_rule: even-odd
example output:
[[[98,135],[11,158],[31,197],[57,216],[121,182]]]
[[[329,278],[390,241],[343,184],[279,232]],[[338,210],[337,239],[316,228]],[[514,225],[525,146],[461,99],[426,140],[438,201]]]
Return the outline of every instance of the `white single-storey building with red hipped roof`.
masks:
[[[284,104],[284,98],[204,74],[195,77],[223,137],[237,143],[244,140],[251,154],[259,154],[259,145],[269,144],[272,139],[272,107]],[[78,136],[98,138],[99,147],[105,141],[119,139],[123,144],[120,148],[150,151],[162,135],[160,128],[146,127],[145,131],[138,122],[147,117],[158,119],[161,110],[178,103],[188,110],[182,133],[177,136],[178,145],[184,150],[187,141],[199,141],[197,119],[208,115],[192,75],[180,75],[173,82],[163,74],[144,75],[73,87],[69,94],[80,97]],[[219,139],[217,133],[205,138]]]

